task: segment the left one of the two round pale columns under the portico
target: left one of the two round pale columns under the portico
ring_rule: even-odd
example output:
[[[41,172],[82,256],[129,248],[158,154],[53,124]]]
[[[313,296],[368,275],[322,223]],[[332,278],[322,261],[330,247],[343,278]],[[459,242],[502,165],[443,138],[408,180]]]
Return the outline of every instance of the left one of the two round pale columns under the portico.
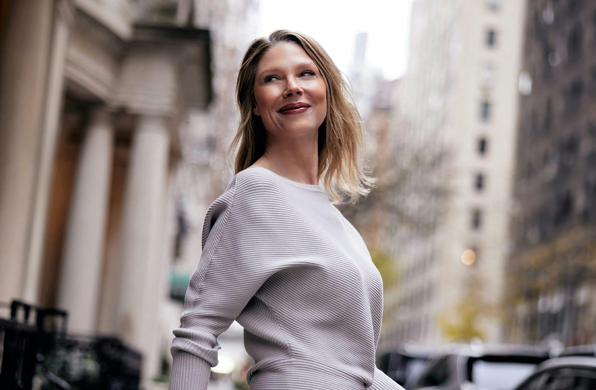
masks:
[[[58,287],[57,307],[69,312],[76,332],[97,329],[113,138],[110,114],[97,110],[80,155]]]

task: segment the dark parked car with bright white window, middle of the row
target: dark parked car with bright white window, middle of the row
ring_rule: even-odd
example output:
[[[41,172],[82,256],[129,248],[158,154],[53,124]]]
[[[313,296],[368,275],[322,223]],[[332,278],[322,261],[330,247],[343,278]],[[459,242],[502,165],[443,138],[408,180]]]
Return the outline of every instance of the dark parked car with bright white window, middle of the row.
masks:
[[[547,360],[549,349],[468,345],[430,359],[408,390],[513,390]]]

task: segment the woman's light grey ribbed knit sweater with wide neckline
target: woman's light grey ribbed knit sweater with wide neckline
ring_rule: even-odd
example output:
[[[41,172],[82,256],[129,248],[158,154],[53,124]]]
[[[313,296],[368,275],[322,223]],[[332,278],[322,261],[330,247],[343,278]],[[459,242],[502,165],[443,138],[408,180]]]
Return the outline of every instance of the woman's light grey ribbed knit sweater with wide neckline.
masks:
[[[383,281],[321,185],[238,172],[207,210],[173,330],[170,390],[204,390],[237,320],[251,390],[397,390],[375,367]]]

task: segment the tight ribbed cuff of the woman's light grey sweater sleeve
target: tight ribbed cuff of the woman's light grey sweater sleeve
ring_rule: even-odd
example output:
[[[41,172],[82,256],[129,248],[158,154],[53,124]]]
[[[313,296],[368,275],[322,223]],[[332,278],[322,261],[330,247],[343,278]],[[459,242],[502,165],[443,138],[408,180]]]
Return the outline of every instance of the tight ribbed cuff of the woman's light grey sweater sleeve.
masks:
[[[211,365],[189,352],[177,351],[172,355],[169,390],[207,390]]]

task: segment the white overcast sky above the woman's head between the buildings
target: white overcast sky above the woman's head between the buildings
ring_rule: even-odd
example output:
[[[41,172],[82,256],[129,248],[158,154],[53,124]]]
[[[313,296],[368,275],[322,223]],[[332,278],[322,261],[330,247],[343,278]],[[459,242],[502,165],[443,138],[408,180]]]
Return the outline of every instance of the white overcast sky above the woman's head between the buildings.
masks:
[[[315,38],[342,72],[354,55],[355,36],[368,33],[367,62],[387,79],[406,69],[412,0],[260,0],[259,36],[276,29]]]

